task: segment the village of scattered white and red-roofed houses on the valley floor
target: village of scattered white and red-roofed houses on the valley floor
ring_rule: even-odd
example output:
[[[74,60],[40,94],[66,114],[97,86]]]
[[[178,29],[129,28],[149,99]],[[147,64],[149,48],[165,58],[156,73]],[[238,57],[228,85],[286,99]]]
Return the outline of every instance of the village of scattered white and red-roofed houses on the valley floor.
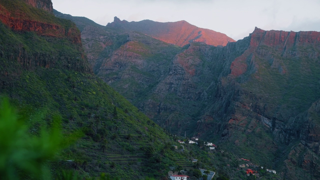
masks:
[[[181,151],[184,151],[185,146],[184,144],[199,144],[202,143],[202,146],[205,147],[209,147],[209,153],[214,153],[217,150],[217,145],[210,143],[210,142],[203,142],[203,141],[199,141],[199,138],[196,137],[192,137],[192,138],[187,138],[187,140],[183,141],[183,140],[178,140],[178,143],[180,143],[180,145],[183,147],[181,149]],[[178,147],[176,145],[175,149],[178,149]],[[201,146],[200,146],[201,147]],[[221,150],[220,152],[224,152],[223,150]],[[191,159],[190,162],[192,163],[196,163],[198,160],[197,159]],[[276,174],[276,170],[273,169],[267,169],[265,167],[259,166],[257,164],[253,164],[250,160],[248,159],[244,159],[244,158],[238,158],[237,159],[239,165],[238,168],[236,168],[237,171],[241,171],[244,170],[245,174],[247,176],[256,176],[257,179],[261,178],[262,175],[259,174],[258,171],[261,171],[261,169],[265,170],[265,172],[270,173],[270,174]],[[227,165],[228,167],[230,167],[230,165]],[[194,166],[195,167],[195,166]],[[176,171],[175,167],[170,167],[171,171],[168,172],[168,179],[171,180],[187,180],[187,179],[195,179],[195,177],[190,177],[187,176],[188,171],[187,169],[184,170],[179,170]],[[206,169],[201,169],[198,168],[198,170],[200,170],[201,172],[201,177],[198,177],[196,179],[199,180],[212,180],[213,176],[216,174],[216,172],[214,171],[210,171],[210,170],[206,170]]]

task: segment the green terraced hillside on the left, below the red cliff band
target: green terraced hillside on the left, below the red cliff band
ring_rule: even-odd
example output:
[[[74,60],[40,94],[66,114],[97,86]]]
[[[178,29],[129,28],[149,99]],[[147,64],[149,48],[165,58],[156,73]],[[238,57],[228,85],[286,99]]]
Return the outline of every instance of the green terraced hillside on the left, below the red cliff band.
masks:
[[[67,37],[14,32],[2,23],[0,36],[1,96],[9,97],[29,133],[37,135],[58,116],[63,134],[83,134],[50,161],[53,176],[70,169],[87,177],[104,172],[123,179],[160,178],[185,159],[172,151],[173,141],[162,128],[90,73],[79,46]],[[37,114],[42,120],[30,121]]]

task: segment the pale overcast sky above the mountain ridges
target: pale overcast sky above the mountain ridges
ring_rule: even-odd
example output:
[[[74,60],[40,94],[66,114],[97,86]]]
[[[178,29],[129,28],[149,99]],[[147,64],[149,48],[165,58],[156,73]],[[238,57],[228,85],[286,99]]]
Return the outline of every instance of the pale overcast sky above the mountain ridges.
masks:
[[[53,8],[106,25],[120,20],[186,20],[239,40],[264,30],[320,31],[320,0],[52,0]]]

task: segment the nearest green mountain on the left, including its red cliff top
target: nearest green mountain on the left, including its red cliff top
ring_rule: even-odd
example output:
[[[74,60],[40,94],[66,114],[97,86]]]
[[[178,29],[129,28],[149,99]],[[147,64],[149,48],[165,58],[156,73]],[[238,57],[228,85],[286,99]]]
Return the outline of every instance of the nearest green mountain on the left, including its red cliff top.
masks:
[[[128,38],[127,35],[117,37],[120,38],[112,40],[121,40],[118,44]],[[110,46],[118,47],[118,44]],[[84,46],[89,45],[92,46],[89,42]],[[26,124],[31,137],[41,135],[47,126],[55,126],[53,121],[59,117],[64,143],[68,142],[67,137],[77,138],[68,148],[57,151],[55,159],[45,160],[46,164],[39,166],[50,165],[46,178],[52,179],[63,170],[70,170],[84,177],[107,173],[122,179],[147,176],[161,179],[166,177],[170,166],[193,169],[189,158],[203,160],[198,167],[215,170],[215,155],[197,146],[186,145],[182,151],[177,137],[152,122],[94,75],[84,46],[76,24],[54,17],[50,0],[0,2],[1,98],[8,97],[17,108],[19,123]],[[32,120],[35,117],[40,120]],[[2,126],[2,122],[0,124]],[[74,137],[75,134],[82,135]],[[15,151],[16,142],[9,144]],[[42,146],[44,144],[37,144]],[[12,157],[14,153],[6,148],[2,147],[1,153]],[[34,147],[29,144],[28,148]],[[37,159],[38,153],[41,154],[34,152],[34,157],[20,154],[18,160],[17,157],[4,159],[0,179],[8,179],[10,173],[20,179],[37,179],[28,174],[30,169],[37,169],[28,164],[28,158]],[[233,159],[235,157],[228,158]]]

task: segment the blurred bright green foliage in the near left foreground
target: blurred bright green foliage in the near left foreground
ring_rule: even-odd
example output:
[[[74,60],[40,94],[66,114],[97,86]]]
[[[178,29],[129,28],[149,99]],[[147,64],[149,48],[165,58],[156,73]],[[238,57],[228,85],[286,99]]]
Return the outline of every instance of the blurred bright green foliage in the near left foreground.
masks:
[[[41,127],[39,135],[31,135],[4,99],[0,108],[0,179],[51,179],[47,161],[66,145],[61,141],[60,122],[55,116],[50,127]]]

